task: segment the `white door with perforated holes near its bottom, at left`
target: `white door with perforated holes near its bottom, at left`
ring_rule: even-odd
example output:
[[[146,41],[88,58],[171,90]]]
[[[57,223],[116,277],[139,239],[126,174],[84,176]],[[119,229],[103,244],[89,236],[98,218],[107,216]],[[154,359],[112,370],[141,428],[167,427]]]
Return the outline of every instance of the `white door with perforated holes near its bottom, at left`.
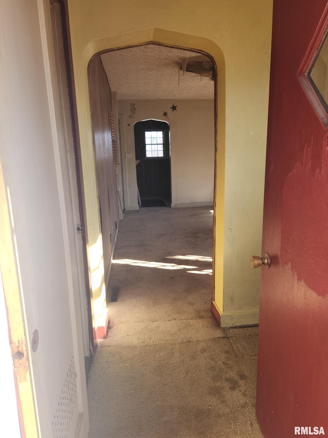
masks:
[[[76,224],[50,2],[0,0],[0,10],[1,202],[10,212],[36,425],[45,438],[86,437]]]

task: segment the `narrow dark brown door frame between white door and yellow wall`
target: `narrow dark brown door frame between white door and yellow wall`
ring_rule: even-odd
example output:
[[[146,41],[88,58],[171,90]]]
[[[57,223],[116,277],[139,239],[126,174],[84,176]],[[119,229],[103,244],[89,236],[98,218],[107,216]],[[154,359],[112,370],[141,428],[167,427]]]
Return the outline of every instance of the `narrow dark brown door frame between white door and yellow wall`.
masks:
[[[91,270],[88,258],[88,230],[85,226],[86,223],[86,203],[84,197],[84,180],[82,173],[82,161],[81,161],[81,148],[79,129],[77,122],[77,106],[76,106],[76,93],[74,85],[74,72],[73,72],[73,60],[70,38],[70,26],[69,26],[69,14],[68,14],[68,0],[50,0],[52,5],[58,5],[60,7],[61,14],[61,29],[57,29],[61,32],[64,42],[64,56],[66,63],[67,85],[70,103],[70,116],[73,134],[74,155],[75,155],[75,169],[76,169],[76,183],[77,183],[77,196],[79,206],[79,232],[82,238],[83,247],[83,260],[84,260],[84,276],[85,276],[85,289],[86,289],[86,304],[88,312],[88,332],[89,332],[89,352],[90,356],[94,354],[96,348],[96,332],[94,329],[94,316],[91,303]]]

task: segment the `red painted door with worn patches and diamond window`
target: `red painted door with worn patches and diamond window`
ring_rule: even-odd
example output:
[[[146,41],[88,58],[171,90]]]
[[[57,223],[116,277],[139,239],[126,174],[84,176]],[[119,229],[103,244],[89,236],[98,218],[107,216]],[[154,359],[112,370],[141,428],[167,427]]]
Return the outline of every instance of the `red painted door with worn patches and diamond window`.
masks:
[[[327,26],[326,0],[274,0],[262,246],[272,266],[261,268],[257,380],[265,438],[328,435],[328,129],[302,74]]]

